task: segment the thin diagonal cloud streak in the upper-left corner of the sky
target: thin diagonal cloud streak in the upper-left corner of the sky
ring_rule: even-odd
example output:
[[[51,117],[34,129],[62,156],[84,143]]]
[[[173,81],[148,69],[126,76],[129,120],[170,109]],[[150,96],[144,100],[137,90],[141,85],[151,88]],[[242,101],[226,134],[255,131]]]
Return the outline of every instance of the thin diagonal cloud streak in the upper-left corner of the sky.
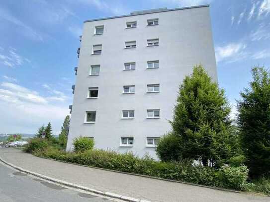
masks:
[[[0,18],[2,18],[2,19],[6,20],[14,25],[21,27],[22,28],[21,32],[25,36],[28,36],[34,40],[43,41],[43,37],[37,31],[35,31],[32,27],[26,25],[24,22],[17,19],[8,10],[5,10],[1,7],[0,7]]]

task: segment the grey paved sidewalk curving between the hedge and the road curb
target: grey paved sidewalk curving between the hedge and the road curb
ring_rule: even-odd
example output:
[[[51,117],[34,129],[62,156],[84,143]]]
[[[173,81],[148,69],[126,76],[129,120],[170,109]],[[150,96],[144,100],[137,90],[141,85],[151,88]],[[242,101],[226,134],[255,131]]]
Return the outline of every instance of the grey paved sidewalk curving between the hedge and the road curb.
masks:
[[[0,157],[16,166],[48,177],[151,202],[269,202],[269,197],[238,194],[181,183],[61,163],[0,148]]]

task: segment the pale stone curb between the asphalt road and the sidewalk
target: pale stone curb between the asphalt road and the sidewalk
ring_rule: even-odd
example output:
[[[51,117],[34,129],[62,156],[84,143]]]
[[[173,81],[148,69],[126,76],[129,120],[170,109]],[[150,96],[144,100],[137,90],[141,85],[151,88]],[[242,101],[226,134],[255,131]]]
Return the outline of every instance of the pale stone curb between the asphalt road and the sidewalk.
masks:
[[[16,170],[22,171],[22,172],[27,173],[27,174],[31,174],[33,176],[36,176],[36,177],[39,177],[39,178],[42,178],[42,179],[45,179],[45,180],[49,180],[49,181],[54,182],[54,183],[65,185],[65,186],[68,186],[68,187],[84,190],[84,191],[87,191],[87,192],[91,192],[91,193],[98,194],[98,195],[103,195],[103,196],[106,196],[106,197],[111,197],[111,198],[114,198],[114,199],[120,199],[120,200],[123,200],[123,201],[126,201],[126,202],[149,202],[149,201],[145,201],[145,200],[139,200],[139,199],[134,199],[134,198],[131,198],[131,197],[121,196],[121,195],[110,193],[110,192],[101,192],[101,191],[91,189],[91,188],[88,188],[88,187],[84,187],[84,186],[81,186],[81,185],[77,185],[77,184],[74,184],[74,183],[69,183],[69,182],[66,182],[66,181],[63,181],[63,180],[58,180],[58,179],[51,178],[51,177],[48,177],[48,176],[45,176],[45,175],[41,175],[39,173],[35,173],[35,172],[29,171],[29,170],[25,170],[25,169],[23,169],[21,167],[15,166],[12,163],[8,163],[7,161],[3,160],[1,157],[0,157],[0,161],[3,162],[6,165],[12,167],[12,168],[15,168]]]

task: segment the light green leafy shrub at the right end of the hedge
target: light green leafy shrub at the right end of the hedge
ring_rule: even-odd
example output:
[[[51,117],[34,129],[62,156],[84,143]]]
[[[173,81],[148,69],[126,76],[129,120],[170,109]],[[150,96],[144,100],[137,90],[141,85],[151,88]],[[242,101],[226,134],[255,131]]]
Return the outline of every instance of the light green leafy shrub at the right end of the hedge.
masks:
[[[249,170],[247,166],[231,167],[223,165],[217,172],[220,186],[235,190],[246,190]]]

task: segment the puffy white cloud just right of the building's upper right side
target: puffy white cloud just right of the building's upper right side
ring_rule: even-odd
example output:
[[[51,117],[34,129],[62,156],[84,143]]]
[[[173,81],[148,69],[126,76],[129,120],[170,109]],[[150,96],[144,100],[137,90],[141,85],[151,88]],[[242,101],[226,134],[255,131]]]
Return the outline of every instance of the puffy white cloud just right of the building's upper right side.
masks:
[[[218,46],[215,48],[216,60],[221,62],[227,60],[227,62],[236,62],[247,56],[244,51],[246,49],[244,43],[229,43],[225,46]]]

